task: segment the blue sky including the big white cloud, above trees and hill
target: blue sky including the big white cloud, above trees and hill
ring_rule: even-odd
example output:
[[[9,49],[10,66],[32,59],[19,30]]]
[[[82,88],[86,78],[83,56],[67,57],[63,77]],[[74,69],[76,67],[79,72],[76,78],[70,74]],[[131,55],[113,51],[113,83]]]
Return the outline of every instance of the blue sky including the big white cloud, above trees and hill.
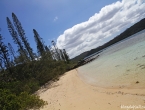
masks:
[[[12,12],[36,52],[33,29],[45,45],[54,40],[70,58],[108,42],[145,18],[145,0],[0,0],[0,34],[16,44],[7,28]],[[12,21],[13,22],[13,21]]]

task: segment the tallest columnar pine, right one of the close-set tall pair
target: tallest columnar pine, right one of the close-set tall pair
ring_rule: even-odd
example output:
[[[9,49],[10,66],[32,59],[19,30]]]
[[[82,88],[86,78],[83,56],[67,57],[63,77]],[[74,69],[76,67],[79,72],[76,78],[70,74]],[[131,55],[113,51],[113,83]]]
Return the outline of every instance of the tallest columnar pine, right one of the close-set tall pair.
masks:
[[[12,13],[12,18],[13,18],[13,21],[14,21],[14,25],[15,25],[17,31],[18,31],[18,34],[19,34],[22,42],[24,43],[26,51],[28,52],[31,60],[34,60],[33,50],[30,47],[30,44],[28,43],[27,37],[25,35],[24,29],[21,26],[20,21],[18,20],[17,16],[14,13]]]

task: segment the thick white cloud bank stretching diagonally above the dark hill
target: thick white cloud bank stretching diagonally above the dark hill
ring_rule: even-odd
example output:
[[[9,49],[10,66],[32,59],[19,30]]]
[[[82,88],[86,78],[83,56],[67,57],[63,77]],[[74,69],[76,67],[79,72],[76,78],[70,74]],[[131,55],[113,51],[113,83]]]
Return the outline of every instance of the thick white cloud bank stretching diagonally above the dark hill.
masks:
[[[122,0],[103,7],[88,21],[76,24],[57,39],[71,58],[96,48],[145,17],[144,0]]]

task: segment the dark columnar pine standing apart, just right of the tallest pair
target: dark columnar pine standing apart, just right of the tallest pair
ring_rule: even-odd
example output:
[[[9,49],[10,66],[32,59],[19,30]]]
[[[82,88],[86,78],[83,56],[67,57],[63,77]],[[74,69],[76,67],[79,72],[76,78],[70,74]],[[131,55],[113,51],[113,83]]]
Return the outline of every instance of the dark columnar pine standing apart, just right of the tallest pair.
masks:
[[[38,32],[35,29],[33,29],[33,33],[37,45],[37,52],[40,56],[43,56],[45,53],[45,46],[41,40],[42,38],[39,36]]]

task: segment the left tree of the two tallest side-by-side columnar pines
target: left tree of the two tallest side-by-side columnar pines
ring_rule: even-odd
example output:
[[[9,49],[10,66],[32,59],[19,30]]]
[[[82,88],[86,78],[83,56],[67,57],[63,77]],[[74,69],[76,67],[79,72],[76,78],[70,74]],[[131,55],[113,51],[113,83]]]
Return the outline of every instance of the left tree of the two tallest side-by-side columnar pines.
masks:
[[[26,59],[28,59],[27,52],[25,51],[25,49],[22,45],[22,42],[19,39],[19,36],[14,29],[13,24],[11,23],[11,21],[8,17],[6,19],[7,19],[8,30],[9,30],[9,32],[14,40],[14,43],[18,45],[18,51],[19,51],[20,55],[24,56]]]

